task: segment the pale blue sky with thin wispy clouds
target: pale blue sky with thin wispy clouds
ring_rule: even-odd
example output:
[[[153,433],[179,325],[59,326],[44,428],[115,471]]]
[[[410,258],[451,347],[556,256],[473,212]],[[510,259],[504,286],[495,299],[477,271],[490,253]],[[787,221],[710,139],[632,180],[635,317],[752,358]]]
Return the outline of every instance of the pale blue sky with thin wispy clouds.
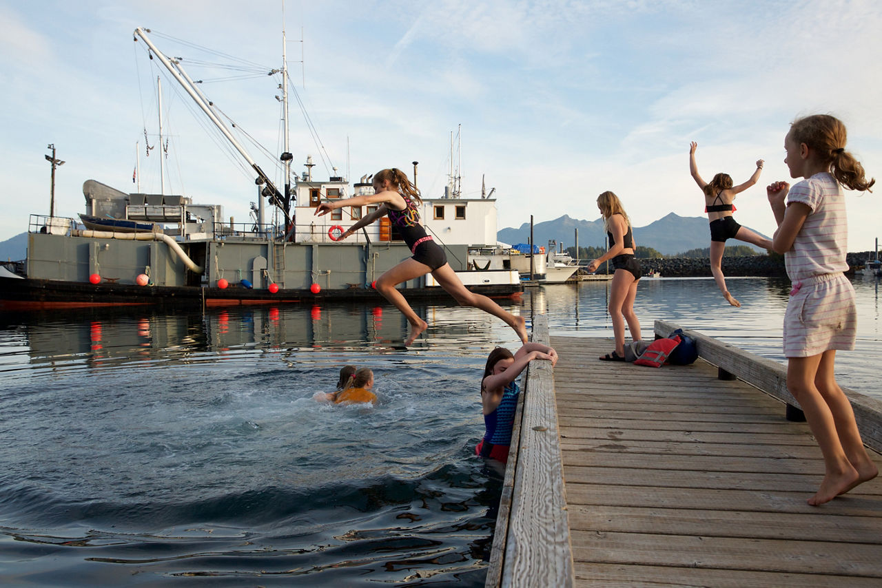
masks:
[[[0,0],[0,241],[49,214],[49,144],[65,161],[57,216],[85,212],[88,179],[161,190],[157,77],[166,192],[247,221],[254,174],[132,32],[148,28],[183,57],[281,184],[279,77],[268,72],[281,65],[283,23],[296,173],[307,155],[314,177],[350,181],[384,167],[412,175],[416,160],[423,196],[439,197],[453,162],[464,197],[480,197],[482,181],[496,188],[500,229],[531,215],[596,220],[605,190],[634,227],[702,216],[696,141],[706,180],[744,182],[766,160],[736,220],[771,235],[765,186],[789,180],[784,136],[814,113],[841,118],[848,150],[882,180],[877,0]],[[226,68],[244,62],[250,71]],[[848,249],[872,249],[882,195],[847,194]]]

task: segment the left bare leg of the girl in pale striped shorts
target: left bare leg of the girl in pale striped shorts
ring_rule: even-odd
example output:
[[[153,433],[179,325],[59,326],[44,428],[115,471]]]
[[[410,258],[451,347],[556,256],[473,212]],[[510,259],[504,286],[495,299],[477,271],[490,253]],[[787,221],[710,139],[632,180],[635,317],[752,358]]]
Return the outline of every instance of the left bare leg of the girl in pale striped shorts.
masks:
[[[836,495],[853,488],[859,477],[842,449],[833,412],[815,386],[821,357],[822,354],[790,357],[787,362],[787,388],[802,406],[811,434],[815,435],[824,455],[824,480],[821,480],[818,492],[808,500],[812,506],[829,502]]]

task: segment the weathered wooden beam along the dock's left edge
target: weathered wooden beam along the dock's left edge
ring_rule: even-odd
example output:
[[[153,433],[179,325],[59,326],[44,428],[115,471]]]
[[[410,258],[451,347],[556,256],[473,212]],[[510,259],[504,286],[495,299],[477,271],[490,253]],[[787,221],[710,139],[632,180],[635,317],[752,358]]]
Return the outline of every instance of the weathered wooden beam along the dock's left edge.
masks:
[[[548,318],[532,340],[549,344]],[[572,547],[557,428],[554,372],[531,361],[518,401],[486,586],[572,586]]]

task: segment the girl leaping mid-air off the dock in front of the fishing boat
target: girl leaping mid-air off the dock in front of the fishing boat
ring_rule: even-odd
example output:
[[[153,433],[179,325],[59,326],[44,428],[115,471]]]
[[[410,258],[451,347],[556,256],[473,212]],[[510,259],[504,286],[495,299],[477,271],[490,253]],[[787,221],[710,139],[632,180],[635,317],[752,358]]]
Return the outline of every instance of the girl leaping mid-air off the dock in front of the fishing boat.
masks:
[[[516,333],[521,343],[527,342],[527,326],[523,316],[514,316],[506,312],[499,305],[483,294],[470,292],[459,276],[453,272],[444,249],[432,240],[430,234],[420,224],[420,212],[417,208],[422,205],[419,190],[407,179],[407,174],[396,167],[384,169],[374,175],[374,194],[356,196],[342,200],[323,202],[316,208],[316,214],[323,216],[336,208],[343,206],[380,205],[376,211],[365,215],[361,220],[349,227],[340,236],[340,241],[362,227],[367,227],[373,221],[389,215],[389,220],[398,227],[401,237],[410,248],[413,257],[409,257],[385,272],[377,279],[376,287],[386,300],[392,302],[396,309],[407,318],[410,324],[410,334],[405,345],[410,345],[426,330],[426,323],[410,308],[407,300],[396,289],[396,286],[408,279],[416,279],[431,273],[437,283],[445,289],[461,306],[474,306],[482,309],[493,316],[498,316],[505,321]]]

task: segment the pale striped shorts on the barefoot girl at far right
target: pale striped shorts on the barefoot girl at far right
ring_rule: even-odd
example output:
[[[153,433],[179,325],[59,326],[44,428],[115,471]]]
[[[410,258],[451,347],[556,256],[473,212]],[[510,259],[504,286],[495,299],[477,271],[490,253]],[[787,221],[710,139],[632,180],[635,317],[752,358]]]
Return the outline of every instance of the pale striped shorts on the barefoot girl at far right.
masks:
[[[855,288],[841,273],[794,282],[784,313],[784,356],[811,357],[855,348]]]

